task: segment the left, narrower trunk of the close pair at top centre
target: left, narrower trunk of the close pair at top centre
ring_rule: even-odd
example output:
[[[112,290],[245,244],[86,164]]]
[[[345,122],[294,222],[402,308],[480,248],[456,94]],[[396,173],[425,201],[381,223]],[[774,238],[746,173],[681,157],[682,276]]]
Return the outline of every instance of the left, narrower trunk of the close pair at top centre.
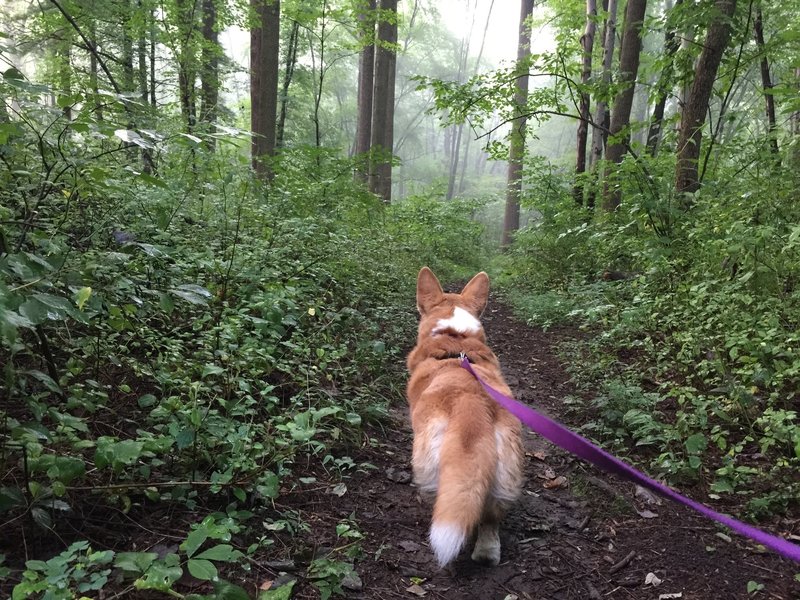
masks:
[[[353,153],[366,156],[372,138],[372,92],[375,76],[375,0],[368,0],[358,15],[359,38],[364,47],[358,59],[358,115]],[[356,169],[356,181],[367,183],[369,166]]]

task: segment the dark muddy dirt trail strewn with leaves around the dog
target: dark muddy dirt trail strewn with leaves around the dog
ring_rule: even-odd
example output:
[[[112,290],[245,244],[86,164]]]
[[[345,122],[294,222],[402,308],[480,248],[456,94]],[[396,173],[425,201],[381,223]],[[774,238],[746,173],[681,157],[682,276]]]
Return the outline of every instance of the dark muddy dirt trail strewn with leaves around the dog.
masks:
[[[563,419],[561,401],[574,390],[555,347],[574,332],[531,329],[514,321],[496,298],[483,323],[516,397]],[[501,527],[500,565],[474,565],[465,550],[450,570],[440,571],[426,539],[431,508],[418,501],[410,481],[405,406],[398,402],[392,414],[392,425],[372,433],[379,443],[354,456],[377,469],[347,478],[341,498],[307,490],[282,498],[282,508],[297,510],[311,525],[304,541],[323,553],[336,543],[325,532],[355,518],[364,535],[363,554],[355,564],[358,580],[345,590],[348,598],[800,598],[800,582],[794,579],[799,565],[759,552],[755,544],[667,500],[656,504],[633,484],[573,459],[530,432],[525,434],[527,480]],[[737,507],[723,510],[736,513]],[[765,527],[800,533],[796,521],[776,520]],[[318,598],[319,592],[298,577],[294,597]],[[748,594],[751,581],[763,588]]]

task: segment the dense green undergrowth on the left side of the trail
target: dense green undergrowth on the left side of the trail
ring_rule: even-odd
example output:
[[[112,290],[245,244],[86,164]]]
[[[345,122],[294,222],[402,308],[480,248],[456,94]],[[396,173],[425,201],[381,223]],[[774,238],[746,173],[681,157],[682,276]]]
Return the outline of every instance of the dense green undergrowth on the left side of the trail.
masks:
[[[384,206],[323,148],[286,150],[264,187],[235,130],[212,155],[169,120],[120,127],[79,99],[67,120],[39,102],[46,88],[0,85],[26,117],[2,130],[0,432],[13,477],[0,515],[57,532],[85,497],[123,512],[177,503],[200,521],[180,552],[115,549],[109,562],[137,589],[216,580],[243,556],[231,536],[244,517],[204,519],[206,507],[263,508],[301,460],[332,476],[356,466],[348,447],[401,394],[417,270],[483,262],[480,203]],[[142,149],[161,157],[157,172],[142,171]],[[302,527],[270,521],[287,525],[249,551]],[[355,524],[338,534],[351,564]],[[90,559],[76,546],[47,568],[59,589],[102,587],[101,565],[77,566]],[[18,594],[50,585],[33,564]],[[318,567],[333,592],[335,565]]]

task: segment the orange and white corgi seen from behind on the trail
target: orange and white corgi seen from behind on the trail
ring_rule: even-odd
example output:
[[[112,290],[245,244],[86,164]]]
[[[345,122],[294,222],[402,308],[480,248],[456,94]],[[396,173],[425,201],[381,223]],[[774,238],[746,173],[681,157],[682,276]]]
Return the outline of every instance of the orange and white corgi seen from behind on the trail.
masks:
[[[478,273],[446,294],[423,267],[417,278],[417,344],[408,355],[406,394],[414,431],[414,483],[435,498],[430,545],[440,567],[477,531],[472,560],[500,562],[500,520],[522,484],[521,425],[460,366],[463,353],[492,387],[511,395],[479,320],[489,277]]]

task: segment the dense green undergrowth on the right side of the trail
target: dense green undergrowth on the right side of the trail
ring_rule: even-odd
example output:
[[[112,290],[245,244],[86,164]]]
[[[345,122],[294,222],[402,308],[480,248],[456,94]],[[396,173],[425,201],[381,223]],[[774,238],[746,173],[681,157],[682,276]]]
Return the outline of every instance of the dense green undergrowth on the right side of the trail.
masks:
[[[709,479],[765,514],[796,498],[800,469],[796,177],[725,177],[688,212],[666,188],[629,184],[605,219],[533,184],[539,217],[504,258],[503,282],[531,322],[594,332],[569,355],[596,390],[573,400],[593,435],[651,447],[656,471]],[[764,491],[765,478],[781,483]]]

